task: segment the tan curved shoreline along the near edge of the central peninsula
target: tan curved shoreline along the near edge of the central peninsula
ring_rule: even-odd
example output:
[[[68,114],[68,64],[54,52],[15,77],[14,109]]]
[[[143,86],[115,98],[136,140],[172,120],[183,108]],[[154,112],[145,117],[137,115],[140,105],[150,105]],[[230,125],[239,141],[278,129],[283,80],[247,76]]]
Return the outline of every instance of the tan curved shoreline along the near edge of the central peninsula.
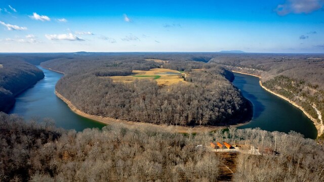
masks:
[[[229,126],[233,127],[238,127],[245,125],[248,122],[244,123],[239,123],[239,124],[234,124],[234,125],[224,125],[224,126],[194,126],[194,127],[188,127],[188,126],[177,126],[177,125],[158,125],[158,124],[153,124],[153,123],[144,123],[144,122],[136,122],[136,121],[126,121],[126,120],[120,120],[120,119],[114,119],[114,118],[109,118],[109,117],[102,117],[102,116],[96,116],[92,114],[87,114],[79,109],[77,109],[68,99],[66,99],[64,96],[62,96],[60,93],[55,90],[55,95],[60,98],[67,106],[70,108],[72,112],[75,114],[95,120],[97,122],[103,123],[103,124],[125,124],[128,127],[139,127],[139,126],[146,126],[146,127],[155,127],[157,129],[165,129],[168,131],[173,131],[173,132],[179,132],[179,133],[196,133],[196,132],[211,132],[215,131],[217,129],[226,129]]]

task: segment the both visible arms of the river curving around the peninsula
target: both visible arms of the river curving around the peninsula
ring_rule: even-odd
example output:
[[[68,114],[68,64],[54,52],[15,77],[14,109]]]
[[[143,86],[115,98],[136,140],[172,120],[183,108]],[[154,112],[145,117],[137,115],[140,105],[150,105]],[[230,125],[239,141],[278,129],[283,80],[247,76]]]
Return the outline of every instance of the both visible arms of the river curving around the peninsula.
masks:
[[[104,126],[97,121],[73,113],[62,100],[56,97],[55,84],[63,74],[37,67],[43,70],[45,78],[16,98],[16,104],[10,114],[19,114],[27,120],[38,118],[39,122],[42,122],[42,118],[53,118],[56,126],[77,131],[88,127]],[[287,101],[266,92],[259,85],[259,78],[239,73],[234,73],[234,75],[233,84],[254,106],[251,122],[238,128],[260,127],[268,131],[281,132],[294,130],[307,138],[316,138],[315,126],[302,111]]]

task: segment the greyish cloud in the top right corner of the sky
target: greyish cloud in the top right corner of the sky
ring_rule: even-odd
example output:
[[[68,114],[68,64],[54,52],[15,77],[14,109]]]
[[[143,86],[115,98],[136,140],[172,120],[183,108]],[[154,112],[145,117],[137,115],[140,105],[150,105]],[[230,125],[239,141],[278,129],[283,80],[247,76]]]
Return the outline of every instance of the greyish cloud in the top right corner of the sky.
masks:
[[[278,5],[274,10],[278,15],[285,16],[290,13],[311,13],[322,8],[324,0],[286,0],[285,4]]]

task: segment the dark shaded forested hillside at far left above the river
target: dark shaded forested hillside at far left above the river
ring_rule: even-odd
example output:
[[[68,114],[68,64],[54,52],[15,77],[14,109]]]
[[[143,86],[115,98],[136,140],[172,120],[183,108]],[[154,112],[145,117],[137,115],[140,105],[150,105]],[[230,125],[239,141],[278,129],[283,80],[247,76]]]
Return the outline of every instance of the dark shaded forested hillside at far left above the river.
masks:
[[[0,111],[8,111],[15,104],[15,96],[44,78],[44,73],[14,57],[1,57],[0,65]]]

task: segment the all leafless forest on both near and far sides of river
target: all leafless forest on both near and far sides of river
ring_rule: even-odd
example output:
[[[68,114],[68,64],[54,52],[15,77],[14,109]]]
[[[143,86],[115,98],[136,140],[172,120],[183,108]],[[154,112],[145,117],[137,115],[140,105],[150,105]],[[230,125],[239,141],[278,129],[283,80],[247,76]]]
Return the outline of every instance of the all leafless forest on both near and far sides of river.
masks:
[[[3,87],[0,89],[4,93],[10,90],[11,98],[15,93],[4,85],[13,85],[8,83],[20,80],[22,75],[31,76],[21,79],[28,84],[42,77],[42,72],[26,62],[41,63],[64,72],[66,75],[57,84],[59,92],[79,109],[114,118],[177,125],[235,122],[246,112],[247,103],[230,83],[233,74],[226,69],[261,75],[264,85],[296,101],[313,117],[317,118],[311,104],[323,113],[321,55],[2,55],[0,64],[13,69],[0,72]],[[189,84],[164,88],[149,80],[116,84],[108,78],[159,67],[183,71]],[[7,101],[4,103],[9,105]],[[286,134],[230,127],[182,134],[154,127],[130,128],[114,124],[102,130],[88,128],[76,132],[56,128],[54,123],[51,119],[25,121],[16,115],[0,113],[2,181],[324,180],[324,148],[317,144],[320,141],[305,139],[293,131]],[[223,141],[271,152],[231,155],[212,151],[211,142]],[[233,174],[226,176],[224,168],[228,163],[232,165],[229,167]]]

